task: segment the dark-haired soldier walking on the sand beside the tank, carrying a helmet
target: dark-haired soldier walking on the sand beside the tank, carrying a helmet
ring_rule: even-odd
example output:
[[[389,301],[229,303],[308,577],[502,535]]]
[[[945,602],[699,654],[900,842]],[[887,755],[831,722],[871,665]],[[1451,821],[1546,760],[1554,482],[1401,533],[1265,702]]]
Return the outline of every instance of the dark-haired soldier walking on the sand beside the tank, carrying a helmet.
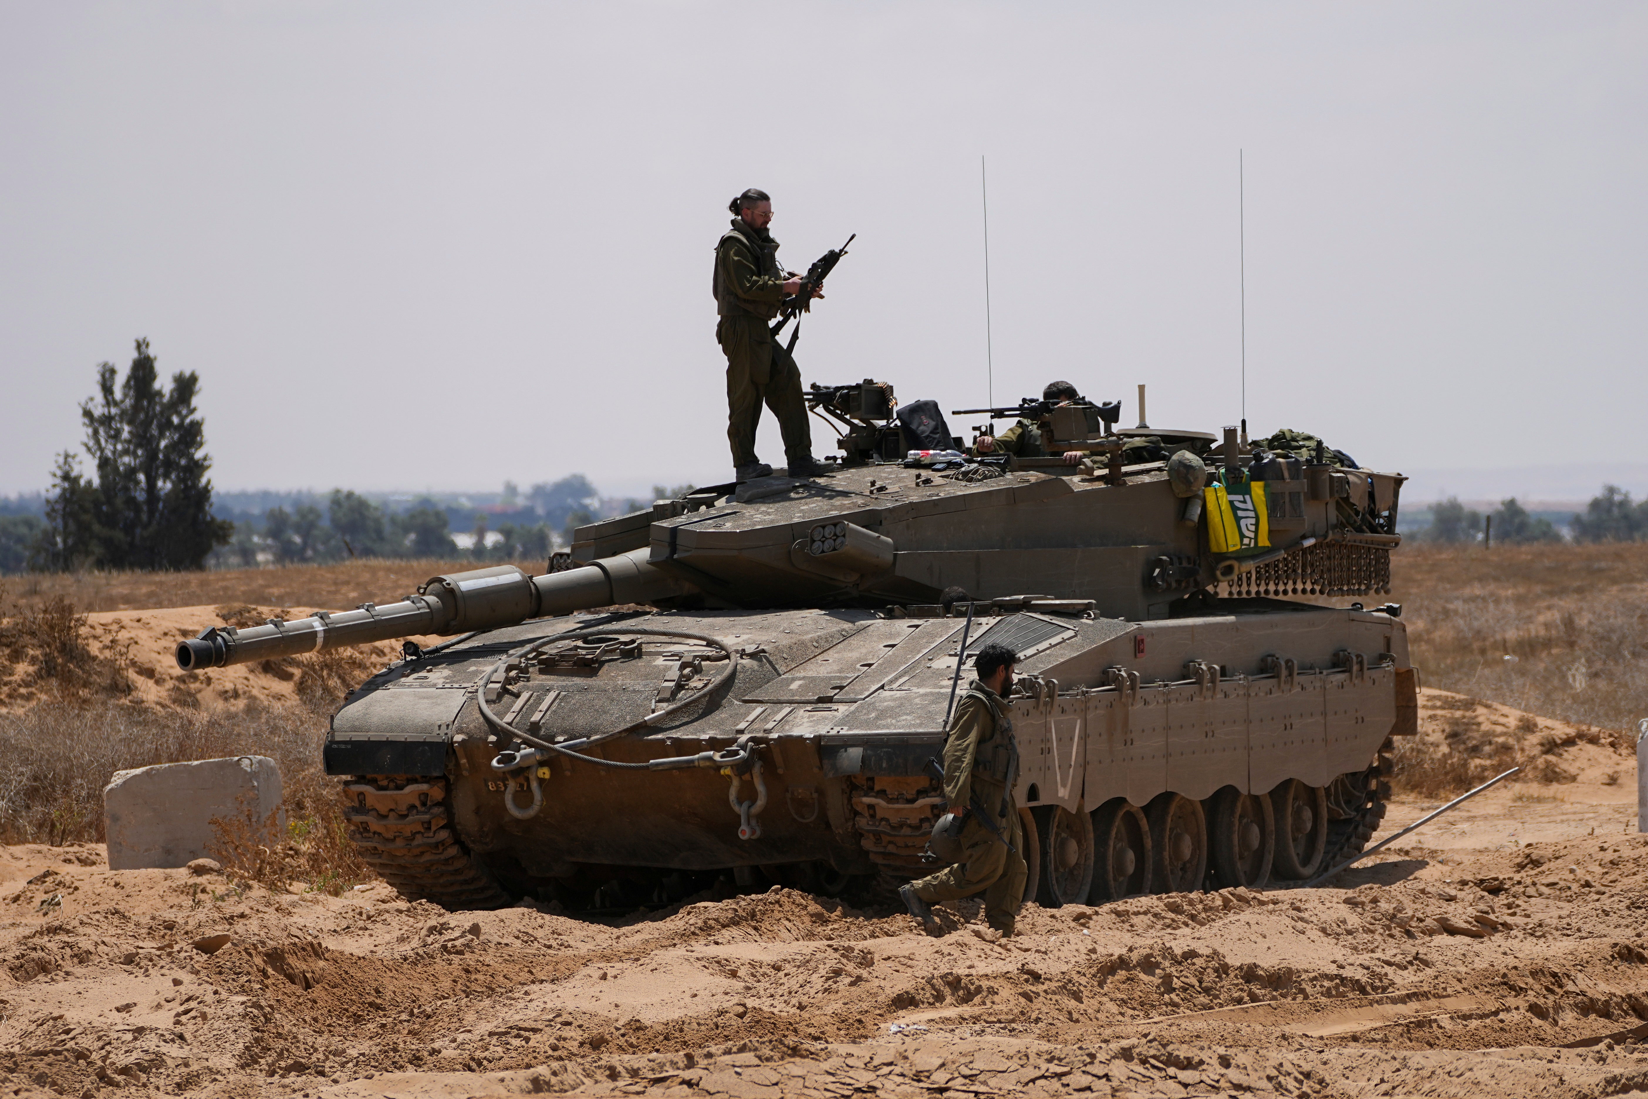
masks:
[[[962,858],[938,873],[898,888],[898,896],[928,934],[938,934],[929,905],[972,896],[984,890],[984,918],[1004,936],[1025,896],[1028,868],[1012,779],[1018,773],[1018,741],[1004,699],[1014,689],[1017,654],[1004,644],[987,644],[974,659],[976,679],[956,705],[944,740],[944,801],[962,814]],[[974,804],[977,802],[977,804]],[[979,806],[994,816],[995,829],[979,821]],[[1005,842],[1004,842],[1005,840]],[[1009,847],[1009,844],[1012,847]]]

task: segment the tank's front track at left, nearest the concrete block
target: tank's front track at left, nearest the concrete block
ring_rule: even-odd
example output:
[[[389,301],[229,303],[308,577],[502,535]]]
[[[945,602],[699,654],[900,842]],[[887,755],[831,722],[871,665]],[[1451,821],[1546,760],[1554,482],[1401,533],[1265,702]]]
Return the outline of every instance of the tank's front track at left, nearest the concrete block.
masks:
[[[443,778],[344,779],[343,819],[356,853],[407,900],[453,910],[513,900],[453,832]]]

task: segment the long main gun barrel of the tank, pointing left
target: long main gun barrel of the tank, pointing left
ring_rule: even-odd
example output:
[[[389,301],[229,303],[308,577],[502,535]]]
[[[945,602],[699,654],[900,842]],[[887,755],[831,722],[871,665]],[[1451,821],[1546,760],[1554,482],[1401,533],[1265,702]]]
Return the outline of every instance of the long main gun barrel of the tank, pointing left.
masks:
[[[178,644],[178,667],[227,667],[302,652],[320,652],[415,634],[456,634],[513,626],[613,603],[651,603],[686,595],[692,585],[648,564],[646,549],[592,565],[529,577],[514,565],[433,577],[399,603],[234,629],[213,626]]]

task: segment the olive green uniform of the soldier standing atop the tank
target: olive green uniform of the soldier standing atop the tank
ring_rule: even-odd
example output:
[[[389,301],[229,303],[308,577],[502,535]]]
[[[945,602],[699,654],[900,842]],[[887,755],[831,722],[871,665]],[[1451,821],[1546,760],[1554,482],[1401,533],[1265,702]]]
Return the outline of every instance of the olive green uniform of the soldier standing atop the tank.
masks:
[[[727,354],[727,440],[733,468],[756,461],[755,428],[765,402],[778,417],[784,460],[812,460],[812,430],[801,397],[801,371],[768,321],[784,300],[784,270],[778,241],[742,217],[715,246],[715,339]]]

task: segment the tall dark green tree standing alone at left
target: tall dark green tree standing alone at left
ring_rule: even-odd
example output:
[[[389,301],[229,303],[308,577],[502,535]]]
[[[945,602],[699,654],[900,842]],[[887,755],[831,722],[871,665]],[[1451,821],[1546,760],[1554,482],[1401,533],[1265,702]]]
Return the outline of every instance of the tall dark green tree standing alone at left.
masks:
[[[211,514],[199,376],[180,371],[170,390],[158,379],[147,339],[125,379],[112,362],[97,366],[97,395],[81,404],[96,479],[71,453],[58,458],[41,554],[51,567],[201,568],[234,537],[234,524]]]

